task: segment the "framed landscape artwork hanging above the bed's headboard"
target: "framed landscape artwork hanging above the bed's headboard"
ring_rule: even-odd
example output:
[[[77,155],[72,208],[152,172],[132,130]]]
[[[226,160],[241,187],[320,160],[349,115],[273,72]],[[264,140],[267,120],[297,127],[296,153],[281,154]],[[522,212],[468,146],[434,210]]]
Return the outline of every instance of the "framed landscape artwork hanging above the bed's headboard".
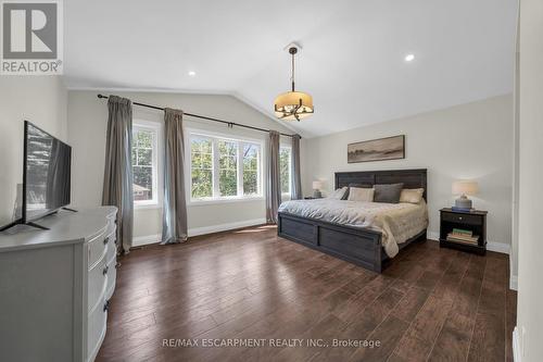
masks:
[[[405,159],[405,135],[350,143],[348,163]]]

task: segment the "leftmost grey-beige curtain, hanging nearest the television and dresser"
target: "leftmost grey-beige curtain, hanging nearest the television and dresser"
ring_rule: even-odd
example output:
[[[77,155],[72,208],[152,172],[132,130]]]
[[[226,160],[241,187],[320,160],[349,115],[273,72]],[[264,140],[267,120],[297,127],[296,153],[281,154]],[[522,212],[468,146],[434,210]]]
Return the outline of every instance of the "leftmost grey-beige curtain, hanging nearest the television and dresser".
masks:
[[[117,245],[128,253],[132,245],[132,104],[129,99],[110,96],[102,204],[115,205]]]

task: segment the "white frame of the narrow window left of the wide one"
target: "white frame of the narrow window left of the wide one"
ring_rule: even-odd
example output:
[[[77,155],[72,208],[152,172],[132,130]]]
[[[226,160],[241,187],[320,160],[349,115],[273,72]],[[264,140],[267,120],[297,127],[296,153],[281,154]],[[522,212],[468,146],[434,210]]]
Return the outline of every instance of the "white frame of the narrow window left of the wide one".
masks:
[[[152,187],[153,187],[153,198],[150,200],[134,200],[134,209],[160,209],[162,208],[162,123],[159,122],[150,122],[144,120],[132,120],[132,137],[134,132],[142,129],[142,130],[151,130],[154,133],[153,137],[153,155],[152,155]],[[132,138],[132,148],[134,148],[134,138]],[[131,150],[130,150],[131,157]],[[134,165],[132,172],[134,172]],[[134,191],[132,191],[134,192]]]

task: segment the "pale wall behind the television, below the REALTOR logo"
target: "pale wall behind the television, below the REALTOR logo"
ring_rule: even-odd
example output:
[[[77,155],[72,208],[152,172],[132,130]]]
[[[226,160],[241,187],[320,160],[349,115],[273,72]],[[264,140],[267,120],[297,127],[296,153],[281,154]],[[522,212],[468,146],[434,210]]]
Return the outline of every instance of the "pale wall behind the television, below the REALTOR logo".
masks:
[[[23,121],[66,140],[66,89],[58,76],[0,77],[0,225],[12,222],[23,183]]]

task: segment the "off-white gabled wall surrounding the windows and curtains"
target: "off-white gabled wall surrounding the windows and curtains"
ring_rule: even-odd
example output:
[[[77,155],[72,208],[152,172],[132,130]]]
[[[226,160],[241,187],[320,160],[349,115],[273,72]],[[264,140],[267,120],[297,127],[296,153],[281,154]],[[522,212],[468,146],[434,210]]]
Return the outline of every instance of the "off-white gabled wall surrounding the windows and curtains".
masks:
[[[68,92],[68,139],[73,146],[73,203],[77,207],[92,207],[101,202],[105,132],[108,107],[105,100],[97,98],[97,93],[109,91],[71,90]],[[132,101],[159,107],[178,108],[186,112],[219,117],[241,124],[253,125],[266,129],[277,129],[292,134],[253,108],[230,96],[186,95],[164,92],[121,92],[112,93],[126,97]],[[164,113],[135,105],[134,118],[151,122],[163,122]],[[245,128],[229,129],[225,125],[186,117],[185,126],[216,132],[238,137],[265,140],[267,134]],[[286,138],[288,142],[290,138]],[[189,235],[216,229],[220,225],[242,225],[243,223],[265,220],[265,201],[240,201],[214,203],[207,205],[189,205]],[[161,209],[137,209],[134,215],[134,236],[138,244],[141,238],[153,241],[162,230]],[[147,237],[151,237],[147,239]]]

